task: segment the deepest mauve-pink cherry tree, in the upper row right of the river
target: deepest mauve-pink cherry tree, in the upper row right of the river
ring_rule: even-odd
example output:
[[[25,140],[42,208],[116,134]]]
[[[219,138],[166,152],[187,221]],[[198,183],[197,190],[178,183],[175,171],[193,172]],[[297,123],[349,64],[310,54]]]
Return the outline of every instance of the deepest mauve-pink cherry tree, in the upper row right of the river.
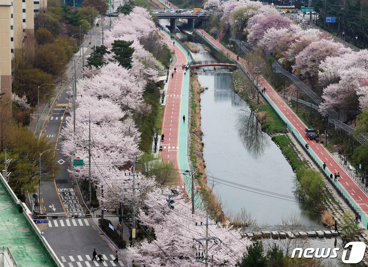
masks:
[[[289,18],[285,18],[281,15],[269,15],[258,20],[257,24],[247,27],[246,31],[249,32],[248,42],[256,44],[262,39],[266,30],[270,28],[281,29],[288,28],[293,22]]]

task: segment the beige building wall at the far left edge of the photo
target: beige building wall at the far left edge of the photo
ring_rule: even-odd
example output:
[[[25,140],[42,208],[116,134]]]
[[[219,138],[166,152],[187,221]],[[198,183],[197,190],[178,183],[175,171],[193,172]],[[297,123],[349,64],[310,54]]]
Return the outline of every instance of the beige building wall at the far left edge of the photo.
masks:
[[[10,0],[0,0],[0,93],[11,98]]]

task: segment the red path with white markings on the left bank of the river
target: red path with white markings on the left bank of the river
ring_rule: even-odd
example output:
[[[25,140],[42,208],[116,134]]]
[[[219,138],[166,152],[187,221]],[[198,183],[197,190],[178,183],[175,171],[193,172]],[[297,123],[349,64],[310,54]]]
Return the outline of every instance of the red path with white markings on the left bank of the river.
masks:
[[[169,89],[167,90],[166,105],[162,122],[162,133],[165,135],[165,138],[164,142],[160,144],[163,147],[163,151],[160,152],[160,156],[163,160],[173,162],[174,167],[179,169],[179,123],[181,120],[183,120],[180,114],[180,100],[184,76],[181,66],[183,64],[187,64],[187,58],[180,48],[178,48],[176,45],[173,45],[173,41],[169,40],[169,37],[167,37],[161,31],[159,31],[159,33],[164,40],[166,39],[169,41],[169,47],[171,50],[174,50],[174,54],[177,59],[176,64],[169,73]],[[176,73],[174,73],[174,68],[176,68]],[[173,78],[171,78],[171,73],[174,73]],[[182,179],[178,179],[178,181],[180,182],[181,186],[184,185]]]

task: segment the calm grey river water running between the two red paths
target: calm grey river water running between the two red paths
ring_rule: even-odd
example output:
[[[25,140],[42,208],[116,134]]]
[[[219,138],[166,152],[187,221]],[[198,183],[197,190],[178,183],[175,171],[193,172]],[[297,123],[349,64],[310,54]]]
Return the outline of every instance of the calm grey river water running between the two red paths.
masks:
[[[167,25],[164,20],[162,24]],[[199,53],[192,53],[194,60],[216,59],[193,37],[182,32],[176,35],[182,42],[198,46]],[[261,130],[247,103],[234,92],[229,69],[204,67],[192,71],[198,73],[201,86],[208,88],[201,94],[206,173],[238,184],[214,183],[213,191],[220,197],[224,212],[234,214],[246,209],[263,230],[280,229],[282,219],[291,214],[300,219],[303,230],[328,230],[319,214],[303,210],[293,198],[294,172],[270,136]],[[212,186],[210,178],[208,183]],[[279,195],[271,196],[270,192]],[[312,238],[309,245],[333,248],[334,241]],[[341,243],[339,238],[337,243]]]

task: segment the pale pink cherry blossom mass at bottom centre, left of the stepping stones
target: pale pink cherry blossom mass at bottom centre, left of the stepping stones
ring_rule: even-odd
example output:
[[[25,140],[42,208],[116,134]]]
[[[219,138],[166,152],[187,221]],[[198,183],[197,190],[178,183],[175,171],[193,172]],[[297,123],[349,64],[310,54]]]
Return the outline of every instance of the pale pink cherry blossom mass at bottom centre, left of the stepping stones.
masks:
[[[164,192],[168,194],[169,190],[166,188]],[[205,237],[205,227],[195,225],[205,223],[206,216],[201,210],[192,214],[191,203],[185,199],[184,195],[177,196],[175,209],[171,210],[167,207],[166,196],[161,194],[161,189],[152,187],[152,190],[146,191],[138,219],[151,235],[154,231],[155,240],[147,239],[128,248],[128,257],[135,264],[145,264],[147,267],[203,265],[195,261],[195,256],[205,248],[204,242],[194,240]],[[211,219],[209,224],[214,224],[208,227],[209,236],[216,237],[209,241],[210,266],[235,266],[247,252],[246,246],[251,244],[250,239],[241,239],[241,231],[231,226],[216,224]]]

